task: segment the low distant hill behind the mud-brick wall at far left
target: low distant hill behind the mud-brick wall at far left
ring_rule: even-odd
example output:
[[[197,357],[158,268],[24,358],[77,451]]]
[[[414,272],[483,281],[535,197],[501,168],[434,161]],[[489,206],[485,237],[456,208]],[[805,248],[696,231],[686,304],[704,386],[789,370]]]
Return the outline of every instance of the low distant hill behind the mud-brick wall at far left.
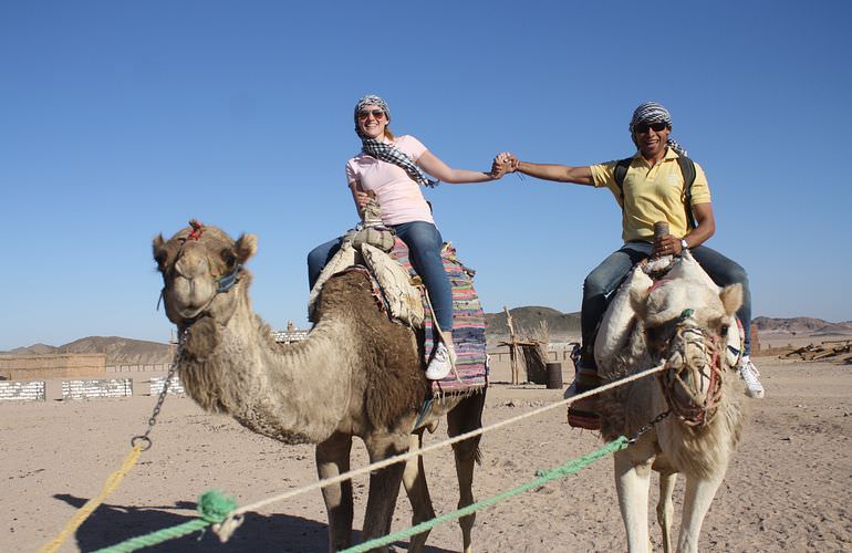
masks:
[[[29,347],[17,347],[9,352],[0,352],[0,355],[46,355],[60,353],[103,353],[106,354],[107,365],[170,363],[173,355],[168,344],[120,336],[90,336],[58,347],[34,344]]]

